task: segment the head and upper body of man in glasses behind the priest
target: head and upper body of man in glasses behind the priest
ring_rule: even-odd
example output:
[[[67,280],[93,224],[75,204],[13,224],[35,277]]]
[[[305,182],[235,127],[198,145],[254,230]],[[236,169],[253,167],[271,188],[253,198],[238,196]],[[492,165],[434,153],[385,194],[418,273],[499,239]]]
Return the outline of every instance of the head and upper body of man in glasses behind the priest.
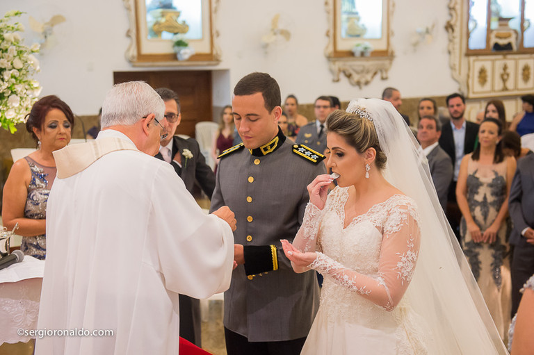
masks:
[[[215,189],[215,174],[206,164],[206,158],[200,152],[198,142],[194,138],[184,139],[175,135],[181,121],[178,94],[168,88],[159,88],[156,92],[165,102],[165,119],[161,124],[168,134],[161,140],[156,158],[165,160],[175,168],[191,194],[197,181],[202,191],[211,199]]]

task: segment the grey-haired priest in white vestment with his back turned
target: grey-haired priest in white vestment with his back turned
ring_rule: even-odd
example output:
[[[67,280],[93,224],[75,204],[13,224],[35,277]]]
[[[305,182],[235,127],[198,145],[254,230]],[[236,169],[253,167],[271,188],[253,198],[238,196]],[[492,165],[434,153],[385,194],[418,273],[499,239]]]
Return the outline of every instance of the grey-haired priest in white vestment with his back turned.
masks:
[[[178,354],[178,294],[229,288],[234,214],[202,213],[153,157],[164,109],[146,83],[115,85],[97,140],[57,151],[38,329],[91,335],[38,338],[35,354]]]

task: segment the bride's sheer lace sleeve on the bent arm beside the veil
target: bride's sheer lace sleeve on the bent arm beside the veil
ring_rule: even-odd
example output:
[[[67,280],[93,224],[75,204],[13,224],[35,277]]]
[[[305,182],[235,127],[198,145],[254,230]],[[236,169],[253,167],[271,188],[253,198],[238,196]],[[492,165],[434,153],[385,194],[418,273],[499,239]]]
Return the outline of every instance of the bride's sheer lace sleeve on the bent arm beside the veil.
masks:
[[[387,311],[392,311],[412,280],[419,253],[420,234],[414,207],[410,204],[394,206],[382,225],[378,276],[359,274],[319,252],[316,253],[316,260],[308,267]]]

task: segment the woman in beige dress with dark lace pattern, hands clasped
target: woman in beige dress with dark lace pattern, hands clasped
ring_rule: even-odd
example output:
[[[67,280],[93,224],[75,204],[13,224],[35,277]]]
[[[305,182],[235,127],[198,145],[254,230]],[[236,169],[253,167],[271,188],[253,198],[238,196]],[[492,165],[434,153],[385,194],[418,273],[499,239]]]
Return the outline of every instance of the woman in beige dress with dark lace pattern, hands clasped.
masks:
[[[501,134],[499,119],[487,118],[480,124],[480,144],[462,159],[456,197],[463,215],[464,254],[504,340],[510,324],[512,287],[506,218],[516,161],[503,154]]]

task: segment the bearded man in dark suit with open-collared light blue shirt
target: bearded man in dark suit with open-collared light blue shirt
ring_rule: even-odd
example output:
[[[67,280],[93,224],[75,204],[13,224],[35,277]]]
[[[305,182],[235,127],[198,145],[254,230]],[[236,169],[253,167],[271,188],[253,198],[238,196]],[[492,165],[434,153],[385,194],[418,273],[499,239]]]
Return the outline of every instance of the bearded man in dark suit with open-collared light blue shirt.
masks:
[[[454,177],[451,187],[448,189],[447,219],[460,241],[460,219],[462,213],[456,202],[456,181],[460,172],[460,163],[465,154],[469,154],[475,149],[476,138],[478,137],[478,124],[468,122],[464,118],[465,99],[461,94],[454,93],[448,95],[448,113],[451,115],[451,122],[444,124],[442,135],[439,137],[439,146],[453,160]],[[460,243],[461,245],[461,243]]]

